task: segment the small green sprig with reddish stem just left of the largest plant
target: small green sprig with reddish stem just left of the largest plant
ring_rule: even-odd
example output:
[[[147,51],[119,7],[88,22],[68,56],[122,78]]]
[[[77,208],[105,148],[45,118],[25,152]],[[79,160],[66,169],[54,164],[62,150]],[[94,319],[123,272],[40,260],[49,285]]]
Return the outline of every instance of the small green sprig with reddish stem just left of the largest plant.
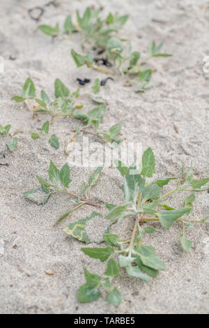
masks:
[[[100,177],[100,172],[102,172],[102,167],[98,167],[95,172],[89,177],[88,184],[85,182],[82,184],[82,195],[76,195],[68,190],[69,184],[72,181],[70,179],[70,167],[68,163],[65,163],[61,170],[59,170],[52,161],[50,161],[49,165],[49,181],[42,179],[37,176],[36,178],[40,182],[40,187],[33,189],[31,191],[26,191],[24,196],[31,200],[32,202],[36,202],[37,204],[45,204],[49,199],[50,195],[54,193],[64,193],[69,195],[72,198],[72,202],[74,202],[75,207],[69,209],[65,214],[61,215],[58,220],[54,223],[56,225],[63,218],[66,218],[72,211],[82,207],[84,204],[88,204],[94,207],[99,207],[98,204],[89,200],[91,188],[97,184],[97,181]]]

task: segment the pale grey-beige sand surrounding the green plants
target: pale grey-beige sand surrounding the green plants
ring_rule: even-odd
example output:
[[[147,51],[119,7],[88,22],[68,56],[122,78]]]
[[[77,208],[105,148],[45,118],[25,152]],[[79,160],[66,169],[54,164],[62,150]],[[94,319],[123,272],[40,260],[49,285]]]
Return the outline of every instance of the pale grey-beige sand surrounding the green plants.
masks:
[[[46,1],[47,2],[47,1]],[[77,77],[104,78],[88,68],[76,68],[70,50],[80,50],[81,36],[70,40],[52,40],[37,30],[27,10],[45,1],[1,0],[0,55],[5,60],[5,73],[0,74],[0,123],[12,124],[12,129],[24,130],[19,135],[17,150],[1,149],[0,162],[0,312],[1,313],[208,313],[209,230],[195,226],[187,231],[192,239],[192,251],[183,253],[178,243],[181,228],[173,224],[169,232],[155,225],[156,233],[147,242],[167,265],[160,275],[144,283],[125,274],[116,278],[123,293],[121,306],[109,306],[103,300],[79,304],[78,286],[84,283],[83,266],[100,273],[105,264],[92,260],[80,251],[79,241],[68,237],[62,229],[78,218],[91,214],[92,207],[83,207],[65,219],[57,228],[52,224],[71,206],[68,197],[54,195],[44,206],[26,200],[23,192],[38,186],[36,174],[47,177],[49,160],[58,167],[67,161],[63,154],[72,119],[57,119],[50,133],[56,133],[61,147],[58,151],[47,140],[31,140],[29,131],[36,131],[46,121],[43,115],[31,118],[31,112],[16,105],[11,96],[19,94],[26,77],[31,77],[38,91],[45,89],[53,96],[53,84],[59,77],[75,91]],[[130,14],[121,34],[132,40],[134,50],[144,52],[155,39],[164,42],[164,51],[173,54],[168,59],[152,61],[157,73],[155,87],[144,94],[123,87],[123,77],[109,81],[101,94],[107,99],[109,111],[104,128],[123,121],[123,137],[140,141],[143,149],[152,147],[156,171],[160,176],[173,176],[181,163],[189,167],[193,161],[197,177],[209,176],[209,73],[203,73],[203,57],[209,55],[209,8],[205,1],[103,0],[59,1],[59,6],[46,8],[40,23],[62,23],[67,13],[75,14],[88,4],[104,6],[104,11]],[[11,60],[10,58],[15,60]],[[84,87],[88,91],[90,86]],[[84,100],[86,108],[93,107]],[[1,139],[2,142],[2,139]],[[2,148],[1,144],[1,148]],[[72,167],[72,190],[79,191],[82,181],[92,169]],[[101,204],[123,202],[121,177],[106,168],[91,199]],[[112,191],[111,193],[109,191]],[[173,204],[178,199],[173,197]],[[196,195],[194,217],[203,218],[209,212],[209,195]],[[132,229],[132,221],[114,228]],[[96,233],[96,231],[95,231]],[[54,275],[45,274],[53,270]]]

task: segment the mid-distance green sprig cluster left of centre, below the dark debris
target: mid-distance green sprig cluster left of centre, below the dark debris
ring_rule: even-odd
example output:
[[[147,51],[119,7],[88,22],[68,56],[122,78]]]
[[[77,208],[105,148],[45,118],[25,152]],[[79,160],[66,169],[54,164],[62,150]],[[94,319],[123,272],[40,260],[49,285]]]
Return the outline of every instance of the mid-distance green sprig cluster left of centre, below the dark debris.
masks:
[[[95,80],[92,86],[92,92],[93,94],[98,94],[99,91],[99,81]],[[80,112],[78,110],[84,106],[75,104],[75,102],[82,97],[82,95],[79,96],[79,89],[70,94],[68,87],[66,87],[65,84],[63,84],[63,82],[61,82],[59,79],[56,79],[54,82],[54,95],[55,100],[50,100],[46,92],[41,90],[41,99],[36,98],[36,88],[33,84],[33,81],[30,78],[27,78],[22,89],[22,94],[20,96],[13,96],[12,100],[15,100],[17,103],[26,103],[29,99],[36,100],[36,104],[33,106],[33,114],[38,112],[43,114],[50,114],[52,117],[52,123],[56,117],[74,117],[75,119],[84,121],[83,128],[75,129],[75,133],[70,138],[70,143],[74,140],[73,138],[75,135],[82,132],[92,133],[91,131],[86,131],[86,128],[95,127],[95,133],[93,134],[98,135],[98,137],[100,137],[103,141],[108,142],[109,147],[118,147],[118,145],[121,144],[121,140],[118,139],[118,136],[121,133],[121,123],[115,124],[109,128],[107,132],[100,131],[100,124],[102,123],[104,114],[106,112],[106,105],[102,103],[103,100],[101,101],[99,98],[95,98],[92,94],[84,94],[91,96],[91,99],[99,105],[87,113]],[[26,103],[26,105],[29,107],[28,103]],[[32,132],[31,137],[33,139],[38,139],[43,135],[47,135],[48,132],[49,121],[46,121],[40,129],[40,133]],[[59,140],[57,139],[56,135],[52,135],[49,138],[49,144],[51,144],[56,149],[59,148]],[[71,148],[71,144],[70,147],[68,147],[68,144],[65,149],[65,152],[67,153],[68,149]]]

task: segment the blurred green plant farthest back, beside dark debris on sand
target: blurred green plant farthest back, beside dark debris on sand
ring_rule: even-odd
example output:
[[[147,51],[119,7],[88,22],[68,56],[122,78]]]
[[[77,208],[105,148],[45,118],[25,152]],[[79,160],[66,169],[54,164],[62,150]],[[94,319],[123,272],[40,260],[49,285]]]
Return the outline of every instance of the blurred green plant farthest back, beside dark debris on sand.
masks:
[[[72,23],[71,15],[65,20],[63,32],[56,27],[49,25],[40,25],[40,30],[49,36],[65,36],[73,32],[82,32],[84,39],[82,49],[87,54],[79,54],[75,50],[71,51],[72,57],[77,67],[86,65],[102,73],[114,75],[116,72],[129,76],[125,85],[134,85],[135,92],[143,92],[153,84],[150,77],[154,70],[144,68],[144,64],[153,57],[168,57],[170,54],[161,52],[162,43],[156,45],[155,41],[148,46],[148,55],[139,60],[140,52],[132,51],[131,43],[125,38],[118,36],[118,30],[123,27],[127,21],[128,15],[119,16],[117,13],[109,13],[106,19],[100,17],[101,10],[94,10],[87,7],[84,15],[81,16],[77,11],[77,22]],[[88,49],[86,50],[86,43]],[[89,52],[90,46],[90,52]],[[102,57],[101,57],[102,55]],[[104,58],[105,56],[105,58]],[[104,66],[98,66],[98,62],[105,66],[113,66],[113,69],[107,69]]]

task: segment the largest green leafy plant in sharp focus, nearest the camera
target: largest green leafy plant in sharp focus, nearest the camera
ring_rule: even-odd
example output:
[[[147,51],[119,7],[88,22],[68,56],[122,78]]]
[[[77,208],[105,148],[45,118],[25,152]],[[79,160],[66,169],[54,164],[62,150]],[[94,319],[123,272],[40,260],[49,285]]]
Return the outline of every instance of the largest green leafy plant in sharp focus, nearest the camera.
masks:
[[[121,161],[117,161],[116,167],[124,178],[124,184],[121,188],[125,202],[119,205],[106,204],[107,209],[109,209],[106,218],[111,221],[109,229],[103,234],[103,242],[107,243],[107,246],[82,248],[82,251],[90,258],[99,259],[101,262],[108,260],[108,262],[107,269],[102,276],[91,274],[84,268],[86,283],[79,288],[78,293],[81,302],[96,301],[102,295],[100,288],[103,288],[106,292],[105,300],[109,304],[121,304],[121,292],[111,285],[114,276],[120,274],[119,267],[122,268],[122,271],[125,270],[128,276],[137,277],[144,281],[149,281],[150,277],[157,277],[159,271],[165,269],[165,264],[157,256],[155,248],[143,244],[144,234],[153,233],[155,229],[151,226],[143,228],[141,223],[153,221],[160,223],[166,230],[169,230],[175,221],[181,223],[183,232],[179,236],[179,241],[186,252],[191,248],[192,241],[186,239],[185,227],[192,228],[194,223],[209,223],[208,217],[202,220],[190,218],[195,199],[194,193],[206,191],[209,188],[208,178],[194,179],[192,165],[186,175],[183,165],[178,178],[157,178],[150,181],[155,173],[155,157],[153,151],[148,148],[139,165],[133,163],[130,167],[126,167]],[[149,181],[146,181],[147,178]],[[163,193],[163,187],[173,180],[176,180],[175,188]],[[167,203],[168,197],[181,191],[187,191],[190,194],[183,200],[182,207],[174,209]],[[87,221],[95,216],[98,214],[93,213],[82,221],[71,223],[64,229],[64,232],[86,244],[91,243],[85,226]],[[127,239],[121,239],[118,234],[112,234],[109,230],[111,225],[120,223],[127,217],[133,218],[134,228],[131,236],[127,236]],[[79,232],[77,230],[75,234],[74,231],[78,229],[78,226],[80,226],[80,230]],[[111,258],[111,255],[114,255],[114,258]],[[116,255],[118,255],[118,262],[115,260]]]

